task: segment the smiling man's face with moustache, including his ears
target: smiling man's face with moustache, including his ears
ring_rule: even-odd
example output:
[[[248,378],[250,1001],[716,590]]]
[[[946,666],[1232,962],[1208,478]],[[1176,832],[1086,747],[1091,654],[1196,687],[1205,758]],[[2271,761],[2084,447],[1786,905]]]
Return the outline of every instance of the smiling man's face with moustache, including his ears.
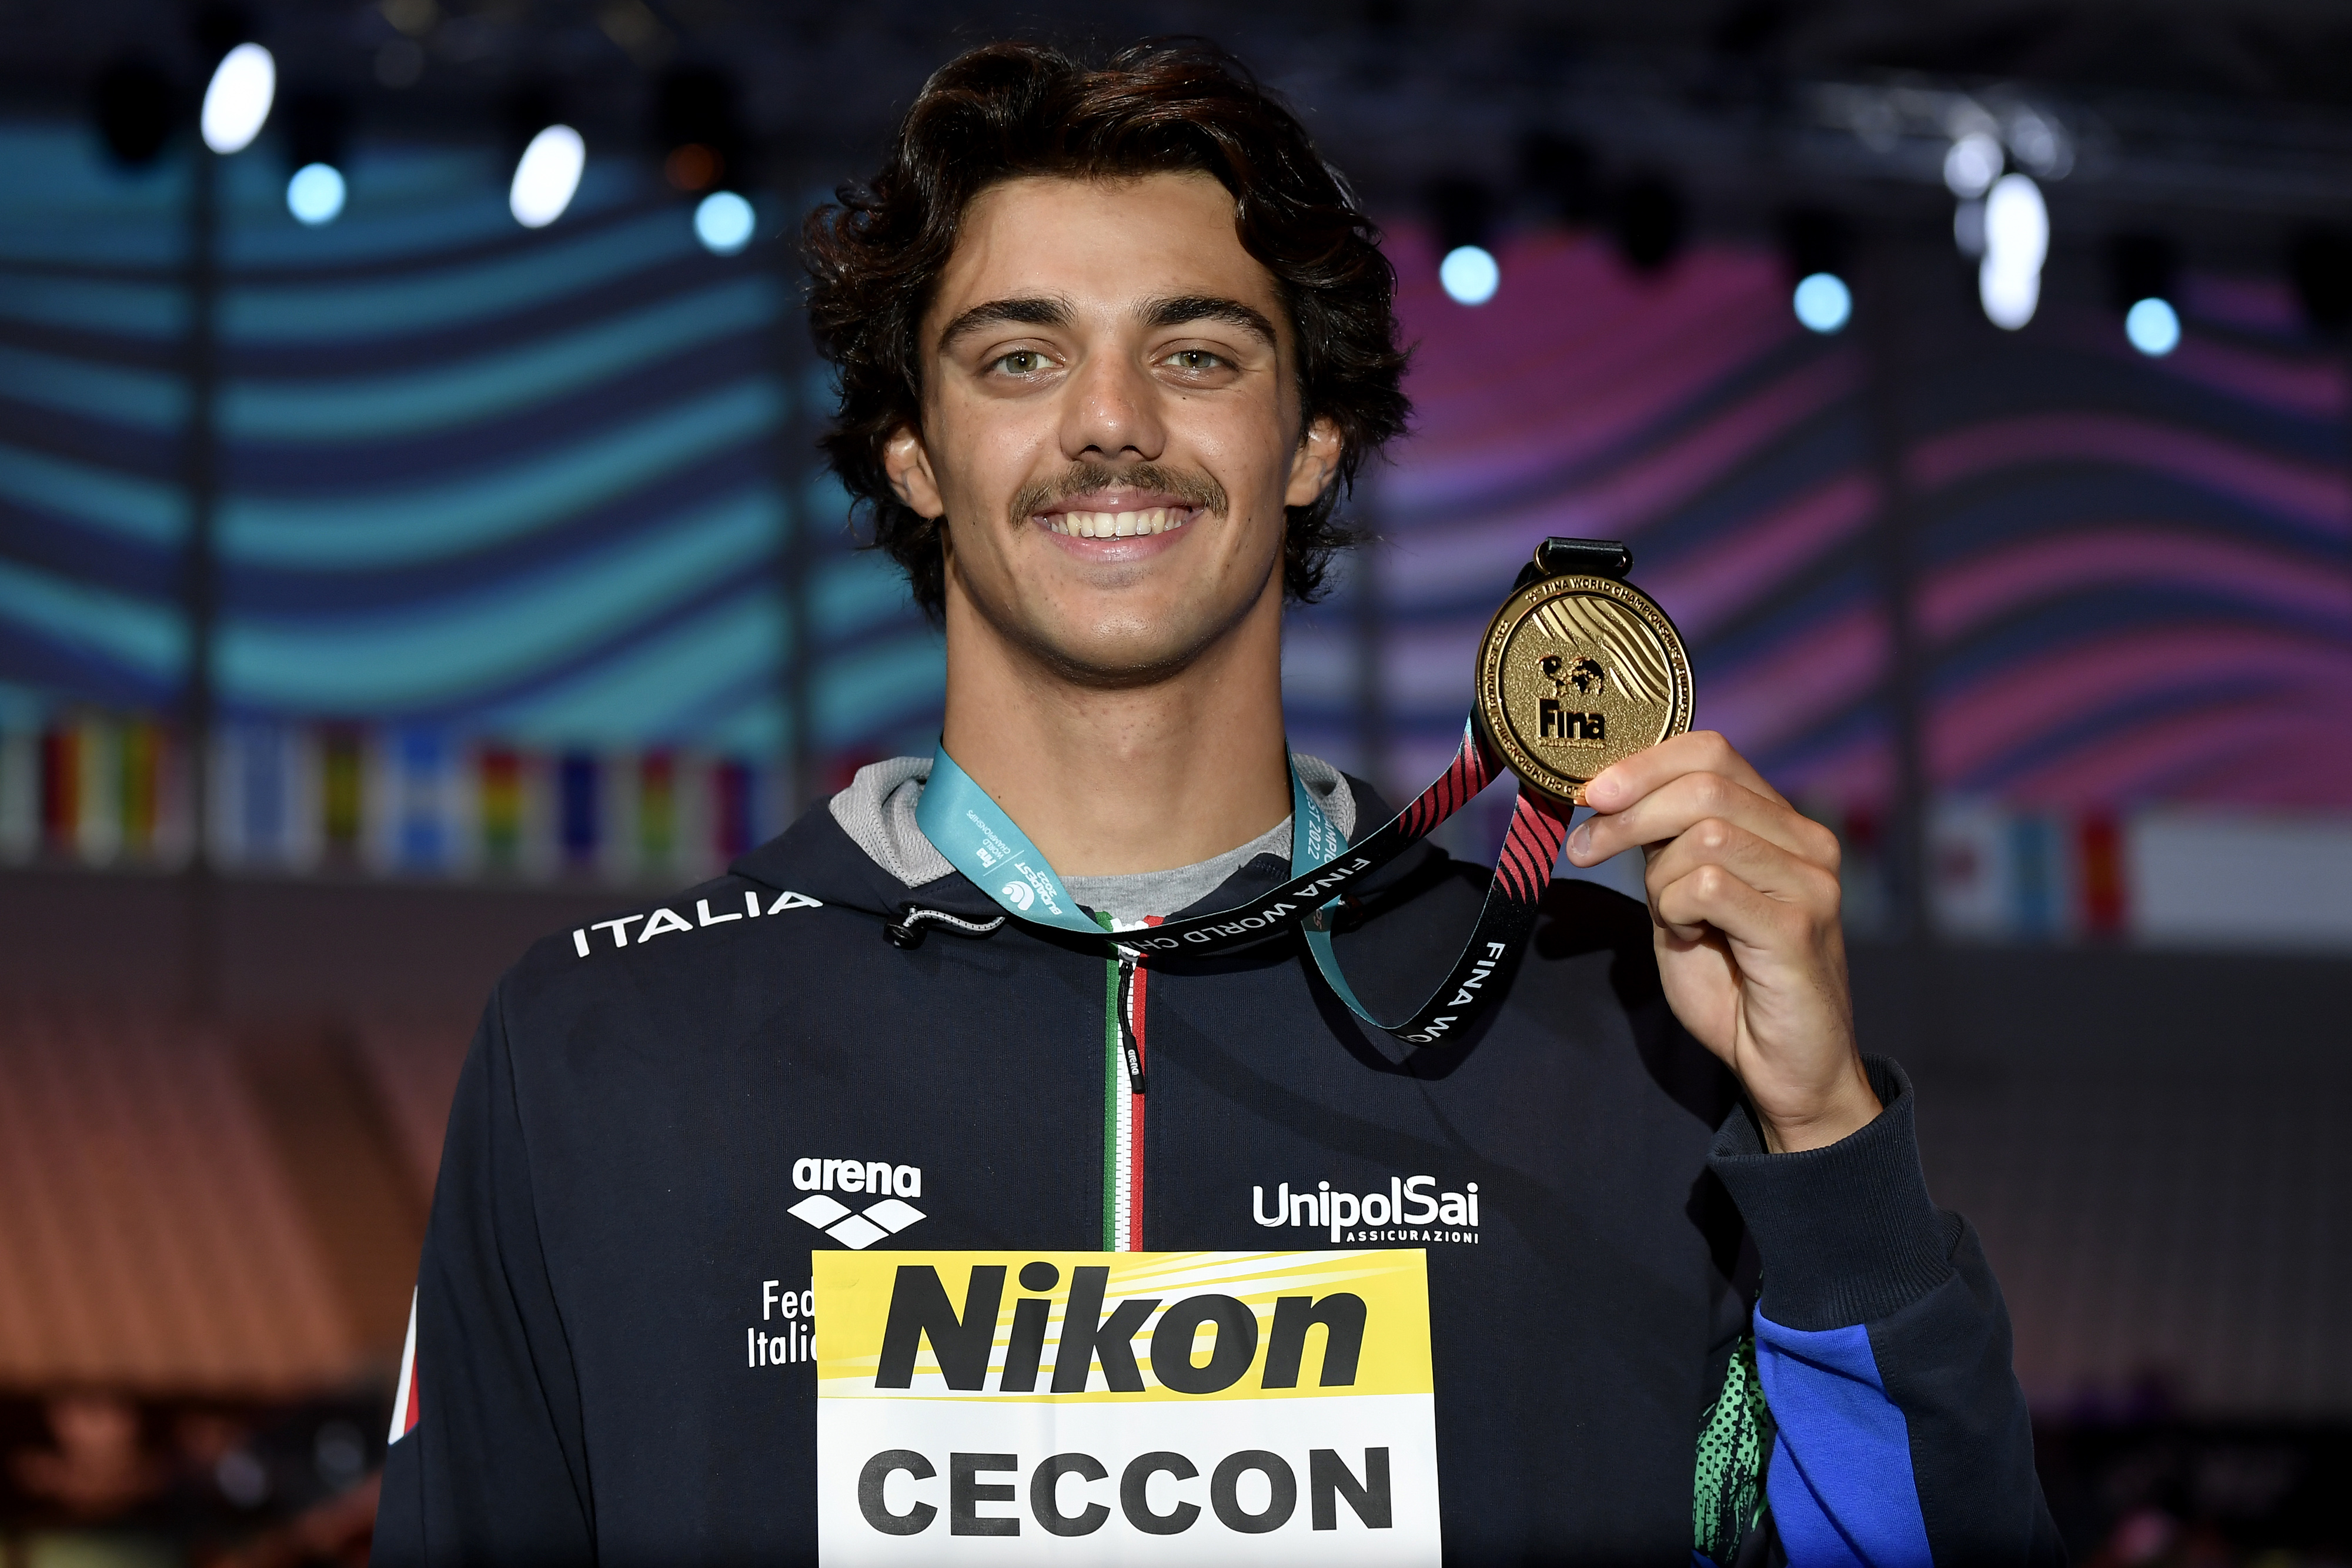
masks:
[[[971,611],[1065,677],[1136,684],[1279,616],[1282,508],[1322,494],[1338,435],[1298,428],[1287,313],[1223,186],[993,186],[922,346],[889,470],[946,517],[950,639]]]

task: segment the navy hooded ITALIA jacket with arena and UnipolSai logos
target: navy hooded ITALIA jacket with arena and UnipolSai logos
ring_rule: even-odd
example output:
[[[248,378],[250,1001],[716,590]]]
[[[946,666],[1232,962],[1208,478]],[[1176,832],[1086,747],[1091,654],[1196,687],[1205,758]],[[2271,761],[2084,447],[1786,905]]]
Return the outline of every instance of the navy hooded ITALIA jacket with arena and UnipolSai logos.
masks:
[[[1385,820],[1298,764],[1343,835]],[[1929,1201],[1893,1063],[1867,1060],[1870,1126],[1764,1152],[1665,1006],[1642,905],[1555,882],[1503,999],[1442,1046],[1359,1027],[1296,933],[1152,961],[1134,1093],[1117,964],[953,872],[913,830],[920,773],[870,769],[499,983],[379,1563],[814,1561],[814,1366],[781,1316],[811,1251],[1364,1241],[1425,1248],[1449,1563],[2060,1559],[1999,1288]],[[1195,910],[1287,875],[1256,856]],[[1416,1001],[1484,884],[1428,844],[1381,872],[1336,943],[1359,997]],[[816,1171],[894,1197],[818,1229],[793,1213]],[[1324,1185],[1418,1206],[1291,1222]]]

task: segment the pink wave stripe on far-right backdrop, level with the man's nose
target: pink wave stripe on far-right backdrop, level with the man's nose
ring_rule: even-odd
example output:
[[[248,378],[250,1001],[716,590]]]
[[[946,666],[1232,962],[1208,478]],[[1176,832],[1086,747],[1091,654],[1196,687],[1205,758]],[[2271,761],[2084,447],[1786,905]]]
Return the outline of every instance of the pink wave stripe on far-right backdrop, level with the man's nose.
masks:
[[[2197,430],[2126,414],[2030,414],[1919,442],[1905,475],[1922,489],[2046,461],[2098,461],[2187,480],[2286,512],[2326,534],[2352,534],[2352,480],[2336,468],[2263,456]]]

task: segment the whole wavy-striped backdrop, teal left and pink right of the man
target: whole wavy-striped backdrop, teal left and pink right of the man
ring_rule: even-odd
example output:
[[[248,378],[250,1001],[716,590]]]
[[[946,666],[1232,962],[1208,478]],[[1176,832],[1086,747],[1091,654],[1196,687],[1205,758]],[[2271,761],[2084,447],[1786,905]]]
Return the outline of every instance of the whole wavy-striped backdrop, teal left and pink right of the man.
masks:
[[[186,642],[186,169],[115,174],[78,127],[0,129],[0,722],[28,701],[160,710]],[[771,254],[703,254],[619,160],[541,233],[506,216],[489,155],[372,153],[322,230],[285,216],[266,153],[226,176],[228,717],[779,755],[800,646],[811,755],[927,743],[938,642],[847,548]],[[1296,621],[1294,743],[1369,766],[1376,708],[1388,783],[1421,785],[1534,541],[1618,536],[1691,642],[1698,722],[1792,792],[1884,802],[1858,334],[1802,331],[1762,252],[1644,280],[1599,240],[1531,235],[1477,310],[1439,294],[1409,226],[1392,254],[1416,433],[1364,491],[1369,571]],[[2164,362],[2063,303],[2009,336],[1955,289],[1905,324],[1943,792],[2352,806],[2345,362],[2279,284],[2199,280],[2183,303]]]

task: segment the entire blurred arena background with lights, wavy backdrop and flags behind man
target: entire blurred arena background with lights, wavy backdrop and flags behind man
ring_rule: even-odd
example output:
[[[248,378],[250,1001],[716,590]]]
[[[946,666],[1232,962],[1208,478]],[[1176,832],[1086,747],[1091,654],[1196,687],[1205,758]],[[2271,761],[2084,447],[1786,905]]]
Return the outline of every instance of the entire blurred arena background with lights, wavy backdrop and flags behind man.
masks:
[[[365,1559],[489,983],[934,736],[800,214],[964,45],[1169,31],[1418,343],[1294,745],[1411,792],[1630,541],[2077,1556],[2352,1561],[2340,5],[0,0],[0,1563]]]

